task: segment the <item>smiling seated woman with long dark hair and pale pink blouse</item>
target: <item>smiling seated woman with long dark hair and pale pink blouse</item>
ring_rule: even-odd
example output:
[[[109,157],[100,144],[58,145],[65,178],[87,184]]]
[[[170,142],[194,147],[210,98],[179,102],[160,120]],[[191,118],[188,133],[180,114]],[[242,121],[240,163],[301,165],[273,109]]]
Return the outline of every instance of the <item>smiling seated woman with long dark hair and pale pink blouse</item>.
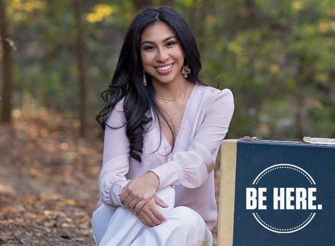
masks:
[[[149,7],[135,17],[97,115],[105,134],[98,245],[212,245],[213,168],[234,102],[229,89],[201,82],[200,70],[177,12]]]

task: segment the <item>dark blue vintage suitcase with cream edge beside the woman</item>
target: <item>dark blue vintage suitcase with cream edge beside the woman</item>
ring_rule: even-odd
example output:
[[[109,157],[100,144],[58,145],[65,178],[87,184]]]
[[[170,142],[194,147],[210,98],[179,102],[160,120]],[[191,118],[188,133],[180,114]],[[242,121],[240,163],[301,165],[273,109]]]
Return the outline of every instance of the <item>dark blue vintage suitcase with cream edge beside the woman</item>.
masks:
[[[218,245],[335,245],[335,145],[224,140]]]

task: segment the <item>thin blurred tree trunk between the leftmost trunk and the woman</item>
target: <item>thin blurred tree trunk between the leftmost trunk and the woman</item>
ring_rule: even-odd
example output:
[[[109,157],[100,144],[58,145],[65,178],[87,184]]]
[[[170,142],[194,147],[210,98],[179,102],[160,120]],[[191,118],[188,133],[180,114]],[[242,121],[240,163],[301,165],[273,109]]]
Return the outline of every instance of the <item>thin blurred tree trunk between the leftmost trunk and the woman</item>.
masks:
[[[86,133],[86,78],[85,78],[85,54],[83,41],[83,28],[81,20],[81,0],[74,0],[75,18],[77,29],[76,51],[78,59],[79,85],[80,85],[80,136]]]

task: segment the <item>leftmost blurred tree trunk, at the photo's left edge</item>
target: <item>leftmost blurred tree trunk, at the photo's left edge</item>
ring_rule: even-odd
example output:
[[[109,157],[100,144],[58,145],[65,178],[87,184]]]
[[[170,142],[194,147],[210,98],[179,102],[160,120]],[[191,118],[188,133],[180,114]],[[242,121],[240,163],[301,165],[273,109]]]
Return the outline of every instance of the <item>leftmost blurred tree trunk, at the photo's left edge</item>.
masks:
[[[3,0],[0,0],[0,37],[3,47],[3,90],[2,90],[2,108],[1,123],[12,123],[12,60],[9,34],[7,33],[6,7]]]

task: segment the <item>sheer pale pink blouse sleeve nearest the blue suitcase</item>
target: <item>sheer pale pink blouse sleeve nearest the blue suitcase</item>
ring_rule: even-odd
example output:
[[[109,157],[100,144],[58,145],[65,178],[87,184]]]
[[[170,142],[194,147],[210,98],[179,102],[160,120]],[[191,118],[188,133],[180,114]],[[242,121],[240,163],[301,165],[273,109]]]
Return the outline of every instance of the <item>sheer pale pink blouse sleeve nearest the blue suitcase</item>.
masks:
[[[233,93],[229,89],[216,93],[207,105],[204,121],[188,150],[174,153],[171,161],[150,170],[159,178],[158,189],[168,185],[197,188],[207,181],[233,113]]]

